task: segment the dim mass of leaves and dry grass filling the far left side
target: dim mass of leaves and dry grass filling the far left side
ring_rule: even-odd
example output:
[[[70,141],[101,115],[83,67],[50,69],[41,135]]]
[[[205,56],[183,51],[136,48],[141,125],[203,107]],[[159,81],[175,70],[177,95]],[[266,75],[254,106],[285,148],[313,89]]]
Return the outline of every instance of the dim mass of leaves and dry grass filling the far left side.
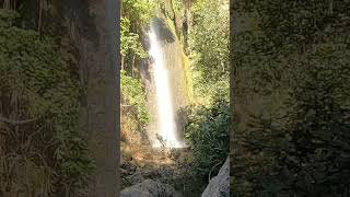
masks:
[[[93,170],[77,128],[80,82],[57,40],[20,22],[0,10],[0,196],[69,194]]]

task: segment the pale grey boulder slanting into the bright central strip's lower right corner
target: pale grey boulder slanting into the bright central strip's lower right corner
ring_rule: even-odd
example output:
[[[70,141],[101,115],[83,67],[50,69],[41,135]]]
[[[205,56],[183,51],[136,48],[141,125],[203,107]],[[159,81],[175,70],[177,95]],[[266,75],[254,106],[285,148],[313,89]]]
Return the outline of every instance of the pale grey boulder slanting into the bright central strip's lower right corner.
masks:
[[[201,197],[229,197],[230,196],[230,159],[221,166],[218,175],[210,179]]]

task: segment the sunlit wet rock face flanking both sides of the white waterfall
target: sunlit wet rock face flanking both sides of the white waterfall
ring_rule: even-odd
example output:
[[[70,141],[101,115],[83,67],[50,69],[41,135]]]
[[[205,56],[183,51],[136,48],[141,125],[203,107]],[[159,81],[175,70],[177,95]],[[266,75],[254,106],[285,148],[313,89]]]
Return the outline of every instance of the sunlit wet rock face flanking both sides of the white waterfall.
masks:
[[[186,62],[187,57],[183,53],[183,47],[177,39],[176,35],[167,27],[165,22],[159,18],[153,20],[153,23],[158,26],[158,37],[162,43],[162,49],[164,53],[164,62],[166,68],[168,69],[170,76],[170,84],[171,84],[171,93],[173,99],[173,106],[175,111],[175,120],[177,125],[177,130],[179,137],[182,138],[182,130],[186,124],[186,119],[184,119],[180,115],[180,109],[186,107],[189,103],[190,93],[188,89],[188,79],[186,76]],[[145,86],[145,92],[148,96],[148,105],[149,111],[152,116],[152,121],[156,123],[156,101],[155,101],[155,86],[154,79],[152,77],[152,63],[151,60],[144,61],[141,65],[141,78]],[[154,130],[155,125],[151,124],[149,130]],[[155,136],[154,132],[150,134],[151,136]]]

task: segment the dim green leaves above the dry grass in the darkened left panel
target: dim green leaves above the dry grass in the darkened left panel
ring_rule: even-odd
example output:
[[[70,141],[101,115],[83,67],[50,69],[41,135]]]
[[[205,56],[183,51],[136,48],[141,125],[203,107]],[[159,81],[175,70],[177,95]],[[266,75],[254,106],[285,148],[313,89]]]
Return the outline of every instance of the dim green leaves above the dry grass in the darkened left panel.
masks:
[[[9,14],[9,11],[4,13]],[[3,11],[0,15],[3,19]],[[37,152],[44,152],[45,162],[50,163],[60,178],[78,184],[93,170],[93,164],[85,142],[77,132],[80,86],[68,56],[52,38],[15,26],[0,25],[0,101],[2,106],[10,107],[4,115],[16,112],[18,117],[38,119],[32,127],[22,128],[23,134],[39,131],[49,136],[48,146],[54,147],[49,153],[35,143],[31,146]],[[18,100],[20,104],[13,106],[9,103],[11,100]],[[23,136],[23,140],[30,143],[32,135]]]

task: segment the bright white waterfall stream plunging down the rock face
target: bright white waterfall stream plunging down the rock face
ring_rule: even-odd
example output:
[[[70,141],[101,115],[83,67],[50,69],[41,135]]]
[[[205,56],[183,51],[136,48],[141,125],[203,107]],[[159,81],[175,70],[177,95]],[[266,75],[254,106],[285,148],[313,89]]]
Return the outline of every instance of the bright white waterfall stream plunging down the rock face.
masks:
[[[166,148],[184,148],[186,144],[177,137],[174,106],[172,102],[172,91],[168,79],[168,69],[164,61],[164,53],[161,43],[155,33],[156,28],[151,23],[151,30],[148,33],[150,39],[149,55],[153,59],[153,79],[155,83],[156,100],[156,134],[161,137],[163,146]],[[160,140],[154,140],[154,148],[162,147]]]

